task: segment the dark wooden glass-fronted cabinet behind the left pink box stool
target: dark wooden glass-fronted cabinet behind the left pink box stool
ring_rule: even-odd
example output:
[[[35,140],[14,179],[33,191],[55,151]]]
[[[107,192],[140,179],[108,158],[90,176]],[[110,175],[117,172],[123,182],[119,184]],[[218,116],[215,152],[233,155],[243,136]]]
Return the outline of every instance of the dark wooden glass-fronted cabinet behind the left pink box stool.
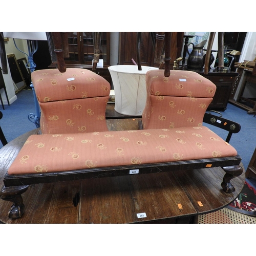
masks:
[[[67,32],[69,44],[69,58],[65,58],[67,68],[85,68],[92,70],[94,56],[93,32]],[[100,44],[100,59],[103,68],[97,68],[96,73],[111,83],[108,70],[110,66],[110,32],[102,32]]]

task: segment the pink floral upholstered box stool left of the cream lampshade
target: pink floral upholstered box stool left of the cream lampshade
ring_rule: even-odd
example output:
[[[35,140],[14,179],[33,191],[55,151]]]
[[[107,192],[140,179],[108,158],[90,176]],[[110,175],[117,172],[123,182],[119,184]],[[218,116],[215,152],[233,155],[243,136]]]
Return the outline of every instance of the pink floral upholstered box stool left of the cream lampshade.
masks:
[[[110,83],[87,69],[37,70],[31,74],[41,110],[42,134],[108,131]]]

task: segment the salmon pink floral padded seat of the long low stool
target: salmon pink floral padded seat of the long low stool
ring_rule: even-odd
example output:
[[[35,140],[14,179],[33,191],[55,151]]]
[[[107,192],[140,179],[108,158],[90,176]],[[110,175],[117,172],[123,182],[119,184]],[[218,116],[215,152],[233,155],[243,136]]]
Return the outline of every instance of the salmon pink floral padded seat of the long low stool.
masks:
[[[32,135],[9,175],[236,156],[207,127]],[[210,160],[209,160],[210,161]],[[136,166],[134,166],[136,168]],[[206,166],[207,167],[207,166]]]

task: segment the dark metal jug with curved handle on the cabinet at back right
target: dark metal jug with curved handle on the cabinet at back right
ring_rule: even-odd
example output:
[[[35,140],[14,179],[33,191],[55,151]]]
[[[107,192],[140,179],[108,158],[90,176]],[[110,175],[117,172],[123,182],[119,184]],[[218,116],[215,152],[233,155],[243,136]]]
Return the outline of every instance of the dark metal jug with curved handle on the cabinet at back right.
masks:
[[[187,59],[187,69],[191,71],[200,71],[203,67],[204,57],[203,57],[203,48],[206,44],[207,40],[203,40],[198,45],[194,45],[193,42],[190,42],[189,45],[193,45],[193,49],[191,53],[188,52]]]

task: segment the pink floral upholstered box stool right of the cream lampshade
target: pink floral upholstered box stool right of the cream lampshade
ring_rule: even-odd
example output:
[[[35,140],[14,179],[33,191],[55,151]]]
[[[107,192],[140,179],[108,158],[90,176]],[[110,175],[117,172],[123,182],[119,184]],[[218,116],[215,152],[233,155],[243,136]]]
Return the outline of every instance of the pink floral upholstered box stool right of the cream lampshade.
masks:
[[[150,70],[146,73],[143,129],[201,126],[216,86],[193,71]]]

